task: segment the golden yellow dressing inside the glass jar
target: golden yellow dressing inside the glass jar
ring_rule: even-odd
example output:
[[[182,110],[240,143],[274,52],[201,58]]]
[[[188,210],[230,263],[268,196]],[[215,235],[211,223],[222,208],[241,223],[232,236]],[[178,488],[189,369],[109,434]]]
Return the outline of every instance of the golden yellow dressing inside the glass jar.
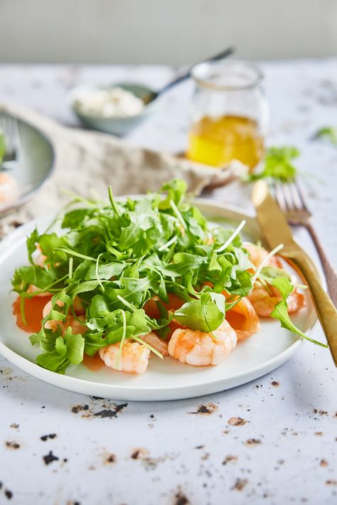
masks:
[[[187,157],[218,167],[237,159],[253,169],[263,151],[264,139],[254,119],[236,115],[204,116],[191,127]]]

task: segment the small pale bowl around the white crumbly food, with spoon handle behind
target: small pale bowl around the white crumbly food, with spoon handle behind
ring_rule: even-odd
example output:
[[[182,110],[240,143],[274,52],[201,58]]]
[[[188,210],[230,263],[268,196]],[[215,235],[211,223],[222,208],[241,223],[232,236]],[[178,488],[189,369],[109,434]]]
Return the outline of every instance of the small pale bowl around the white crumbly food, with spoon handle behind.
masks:
[[[97,89],[109,90],[112,87],[122,87],[122,89],[132,92],[134,95],[141,98],[141,100],[149,97],[149,95],[154,95],[154,99],[151,100],[151,102],[148,104],[144,105],[144,109],[140,112],[140,114],[128,117],[102,117],[96,115],[88,115],[83,114],[80,111],[80,108],[77,107],[76,99],[83,92],[88,92],[90,90],[95,91]],[[114,135],[122,137],[123,135],[129,133],[129,131],[136,127],[138,124],[143,122],[144,119],[146,119],[146,117],[148,117],[152,112],[154,112],[154,110],[156,110],[158,107],[159,100],[157,99],[156,92],[144,85],[135,83],[113,83],[110,85],[96,87],[74,87],[68,95],[68,102],[70,107],[73,109],[73,112],[75,112],[75,115],[77,115],[80,121],[87,127],[97,129],[100,132],[112,133]]]

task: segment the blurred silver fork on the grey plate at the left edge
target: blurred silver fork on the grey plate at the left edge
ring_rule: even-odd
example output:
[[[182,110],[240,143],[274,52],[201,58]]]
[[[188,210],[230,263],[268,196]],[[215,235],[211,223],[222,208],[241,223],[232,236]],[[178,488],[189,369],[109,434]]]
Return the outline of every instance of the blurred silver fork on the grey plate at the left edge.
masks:
[[[0,131],[4,133],[6,151],[0,170],[10,170],[17,166],[21,151],[20,131],[15,117],[0,115]]]

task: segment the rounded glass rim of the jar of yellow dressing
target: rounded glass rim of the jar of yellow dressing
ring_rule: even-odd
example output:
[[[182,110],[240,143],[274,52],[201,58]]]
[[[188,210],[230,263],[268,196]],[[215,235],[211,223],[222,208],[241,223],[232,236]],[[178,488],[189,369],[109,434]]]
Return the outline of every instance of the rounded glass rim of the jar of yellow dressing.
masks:
[[[247,82],[235,84],[214,82],[214,75],[212,75],[212,73],[214,73],[215,70],[222,70],[225,72],[225,70],[235,68],[235,66],[237,68],[250,71],[251,75],[246,75]],[[257,86],[264,79],[262,71],[254,65],[254,63],[250,63],[250,61],[247,60],[237,59],[218,61],[205,60],[201,63],[197,63],[191,68],[191,77],[200,87],[207,87],[210,90],[218,91],[247,90]]]

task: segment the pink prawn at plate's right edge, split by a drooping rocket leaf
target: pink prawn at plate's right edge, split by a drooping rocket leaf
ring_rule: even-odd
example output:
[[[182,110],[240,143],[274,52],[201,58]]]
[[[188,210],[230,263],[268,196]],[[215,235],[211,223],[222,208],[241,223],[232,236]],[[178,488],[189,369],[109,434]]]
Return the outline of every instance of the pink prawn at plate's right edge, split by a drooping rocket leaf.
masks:
[[[261,317],[269,317],[275,305],[282,299],[276,287],[269,285],[269,290],[270,292],[262,286],[256,286],[248,294],[248,299],[257,314]],[[304,294],[300,293],[295,287],[289,294],[287,304],[289,313],[297,312],[299,309],[305,307]]]

